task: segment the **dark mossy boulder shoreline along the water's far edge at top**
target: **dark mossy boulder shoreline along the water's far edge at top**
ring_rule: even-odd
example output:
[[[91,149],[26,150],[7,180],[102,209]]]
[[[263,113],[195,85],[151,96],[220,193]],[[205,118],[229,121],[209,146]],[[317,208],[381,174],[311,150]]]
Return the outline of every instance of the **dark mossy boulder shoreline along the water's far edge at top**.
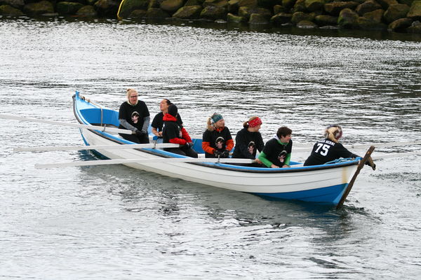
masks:
[[[421,34],[421,0],[0,0],[0,15],[176,18]]]

